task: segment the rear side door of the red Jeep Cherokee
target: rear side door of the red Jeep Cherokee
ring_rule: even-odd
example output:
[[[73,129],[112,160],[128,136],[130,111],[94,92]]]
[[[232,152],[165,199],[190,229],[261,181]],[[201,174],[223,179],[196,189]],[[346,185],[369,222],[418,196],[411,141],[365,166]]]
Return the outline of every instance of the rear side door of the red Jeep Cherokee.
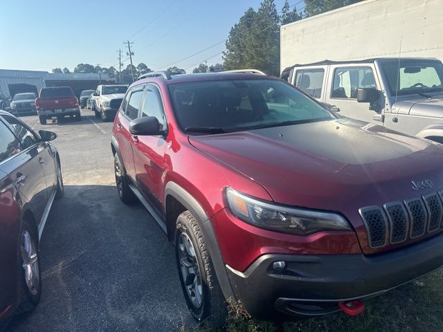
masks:
[[[142,84],[134,86],[127,91],[125,99],[122,102],[122,107],[120,107],[120,112],[118,112],[116,127],[114,129],[126,174],[134,183],[136,183],[136,170],[134,167],[132,142],[135,138],[129,133],[129,122],[138,116],[141,100],[143,99],[144,87],[145,84]]]

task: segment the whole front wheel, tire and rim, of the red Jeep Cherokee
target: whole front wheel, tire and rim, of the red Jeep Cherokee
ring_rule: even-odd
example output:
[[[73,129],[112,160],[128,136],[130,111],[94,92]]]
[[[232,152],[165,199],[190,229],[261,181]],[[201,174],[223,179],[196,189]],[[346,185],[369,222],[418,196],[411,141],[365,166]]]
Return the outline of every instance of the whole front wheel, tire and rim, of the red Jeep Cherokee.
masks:
[[[227,306],[215,275],[204,235],[195,216],[185,211],[177,218],[175,255],[183,295],[195,320],[210,328],[222,326]]]

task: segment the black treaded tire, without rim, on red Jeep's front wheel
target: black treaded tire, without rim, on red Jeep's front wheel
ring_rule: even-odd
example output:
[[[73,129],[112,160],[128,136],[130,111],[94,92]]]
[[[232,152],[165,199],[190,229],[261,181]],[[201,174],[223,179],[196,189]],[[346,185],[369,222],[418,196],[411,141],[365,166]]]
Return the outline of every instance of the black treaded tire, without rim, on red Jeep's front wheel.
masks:
[[[190,275],[187,277],[183,276],[183,270],[187,270],[186,268],[182,269],[180,257],[181,252],[183,251],[183,249],[181,249],[180,238],[183,236],[183,233],[186,234],[192,243],[195,257],[197,258],[197,264],[199,266],[202,295],[201,304],[199,306],[196,306],[195,303],[192,302],[191,295],[185,284],[185,280],[188,283],[191,283],[189,280]],[[224,298],[223,293],[221,293],[221,288],[217,276],[215,275],[213,261],[210,258],[208,248],[206,248],[204,235],[201,232],[199,223],[197,219],[195,219],[195,216],[189,211],[181,213],[177,218],[175,256],[177,260],[177,268],[179,270],[181,288],[192,317],[199,322],[206,322],[210,329],[223,326],[228,314],[226,299]],[[189,270],[187,271],[187,273],[189,273]]]

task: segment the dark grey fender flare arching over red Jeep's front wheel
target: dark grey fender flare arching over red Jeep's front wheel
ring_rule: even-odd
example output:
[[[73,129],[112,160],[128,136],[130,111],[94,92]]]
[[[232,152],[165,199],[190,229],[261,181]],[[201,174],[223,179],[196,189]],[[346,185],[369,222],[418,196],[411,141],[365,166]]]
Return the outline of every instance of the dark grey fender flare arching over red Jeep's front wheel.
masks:
[[[221,291],[223,292],[225,299],[235,299],[233,288],[230,284],[223,258],[221,257],[217,237],[215,237],[213,225],[210,223],[205,210],[201,207],[197,199],[183,189],[183,187],[172,181],[166,184],[164,202],[166,202],[168,196],[177,199],[197,219],[201,232],[203,232],[205,238],[206,247],[208,248],[210,257],[213,261],[215,275],[217,275]]]

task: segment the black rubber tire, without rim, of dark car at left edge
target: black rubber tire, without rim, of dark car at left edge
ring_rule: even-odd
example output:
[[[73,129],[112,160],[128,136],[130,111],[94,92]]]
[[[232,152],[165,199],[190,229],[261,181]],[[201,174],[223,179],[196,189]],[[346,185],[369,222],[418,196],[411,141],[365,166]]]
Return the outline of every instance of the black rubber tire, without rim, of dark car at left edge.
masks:
[[[28,288],[28,285],[26,284],[26,279],[25,279],[25,269],[24,269],[24,259],[22,259],[21,257],[21,243],[22,243],[22,238],[23,238],[23,234],[24,232],[28,232],[28,234],[30,235],[30,241],[33,243],[33,246],[36,250],[37,253],[37,248],[38,248],[38,236],[37,236],[37,230],[35,228],[35,226],[28,222],[28,221],[23,221],[21,223],[21,227],[20,227],[20,235],[19,235],[19,243],[18,243],[18,264],[17,264],[17,269],[18,272],[17,275],[19,277],[19,282],[17,284],[19,284],[19,294],[20,294],[20,302],[19,302],[19,306],[17,308],[18,313],[24,313],[27,311],[32,311],[37,304],[40,301],[40,297],[42,296],[42,272],[41,272],[41,268],[39,266],[39,260],[38,260],[38,256],[37,256],[37,266],[38,266],[38,283],[36,283],[36,287],[34,288],[33,291],[35,291],[36,293],[31,293],[30,289]]]

